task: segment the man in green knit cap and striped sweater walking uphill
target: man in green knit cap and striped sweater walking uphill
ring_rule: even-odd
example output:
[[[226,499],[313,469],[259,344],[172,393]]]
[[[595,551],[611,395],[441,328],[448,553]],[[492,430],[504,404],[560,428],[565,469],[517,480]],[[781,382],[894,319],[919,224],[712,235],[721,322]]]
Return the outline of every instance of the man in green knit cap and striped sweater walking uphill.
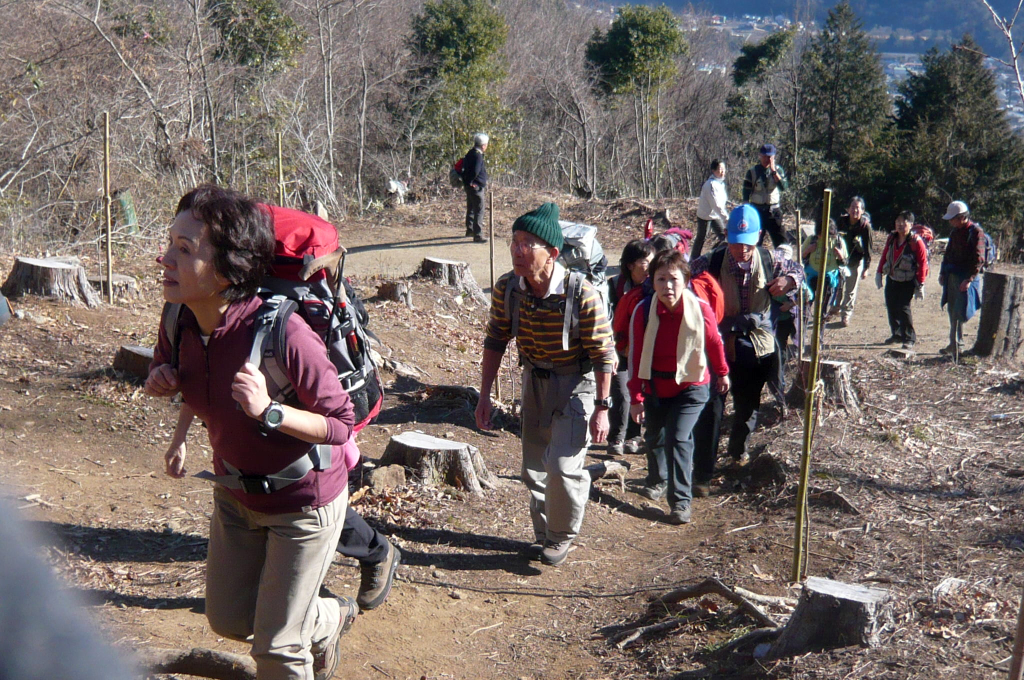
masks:
[[[608,435],[615,352],[594,287],[558,260],[558,206],[545,203],[512,225],[512,271],[495,284],[483,340],[476,424],[493,429],[490,388],[509,340],[522,363],[522,480],[534,520],[530,557],[565,561],[590,495],[591,437]]]

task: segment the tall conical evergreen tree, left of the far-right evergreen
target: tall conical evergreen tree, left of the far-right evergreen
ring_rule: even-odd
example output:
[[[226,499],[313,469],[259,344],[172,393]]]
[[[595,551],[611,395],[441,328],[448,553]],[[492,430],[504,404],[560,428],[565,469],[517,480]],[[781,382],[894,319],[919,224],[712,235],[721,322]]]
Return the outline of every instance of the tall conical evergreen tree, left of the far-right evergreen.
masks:
[[[841,196],[861,192],[880,162],[878,142],[892,104],[879,54],[849,2],[829,10],[802,69],[804,141],[822,162],[809,186],[816,193],[831,185]]]

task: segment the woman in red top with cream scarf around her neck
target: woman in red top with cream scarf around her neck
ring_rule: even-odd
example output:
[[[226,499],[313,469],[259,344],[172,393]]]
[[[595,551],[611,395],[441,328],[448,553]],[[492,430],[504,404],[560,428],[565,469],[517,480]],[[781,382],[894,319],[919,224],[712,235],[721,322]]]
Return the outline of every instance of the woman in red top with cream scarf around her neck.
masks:
[[[659,252],[650,263],[654,294],[633,310],[630,323],[630,416],[646,424],[648,450],[664,437],[668,521],[690,521],[693,426],[715,389],[729,389],[718,320],[711,305],[687,287],[690,268],[676,251]]]

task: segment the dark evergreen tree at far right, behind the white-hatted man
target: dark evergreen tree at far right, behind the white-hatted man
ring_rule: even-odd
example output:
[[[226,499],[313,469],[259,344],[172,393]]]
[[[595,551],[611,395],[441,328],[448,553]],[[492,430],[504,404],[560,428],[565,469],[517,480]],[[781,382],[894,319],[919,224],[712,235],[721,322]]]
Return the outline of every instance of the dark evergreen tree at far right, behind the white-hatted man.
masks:
[[[895,210],[935,226],[962,200],[987,228],[1013,230],[1024,215],[1024,142],[999,105],[995,75],[966,36],[925,54],[924,71],[900,87],[898,151],[888,172]]]

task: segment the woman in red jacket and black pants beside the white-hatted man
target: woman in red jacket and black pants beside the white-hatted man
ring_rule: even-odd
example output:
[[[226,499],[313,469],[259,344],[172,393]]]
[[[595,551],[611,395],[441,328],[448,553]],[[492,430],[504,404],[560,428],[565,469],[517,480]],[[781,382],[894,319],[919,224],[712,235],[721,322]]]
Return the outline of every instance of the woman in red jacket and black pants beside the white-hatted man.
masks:
[[[896,230],[889,235],[879,258],[879,269],[874,274],[874,285],[882,288],[886,281],[886,311],[889,312],[889,329],[892,334],[887,345],[903,343],[903,349],[910,349],[918,341],[910,315],[913,298],[925,298],[925,280],[928,279],[928,248],[924,239],[911,231],[913,213],[903,211],[896,218]]]

